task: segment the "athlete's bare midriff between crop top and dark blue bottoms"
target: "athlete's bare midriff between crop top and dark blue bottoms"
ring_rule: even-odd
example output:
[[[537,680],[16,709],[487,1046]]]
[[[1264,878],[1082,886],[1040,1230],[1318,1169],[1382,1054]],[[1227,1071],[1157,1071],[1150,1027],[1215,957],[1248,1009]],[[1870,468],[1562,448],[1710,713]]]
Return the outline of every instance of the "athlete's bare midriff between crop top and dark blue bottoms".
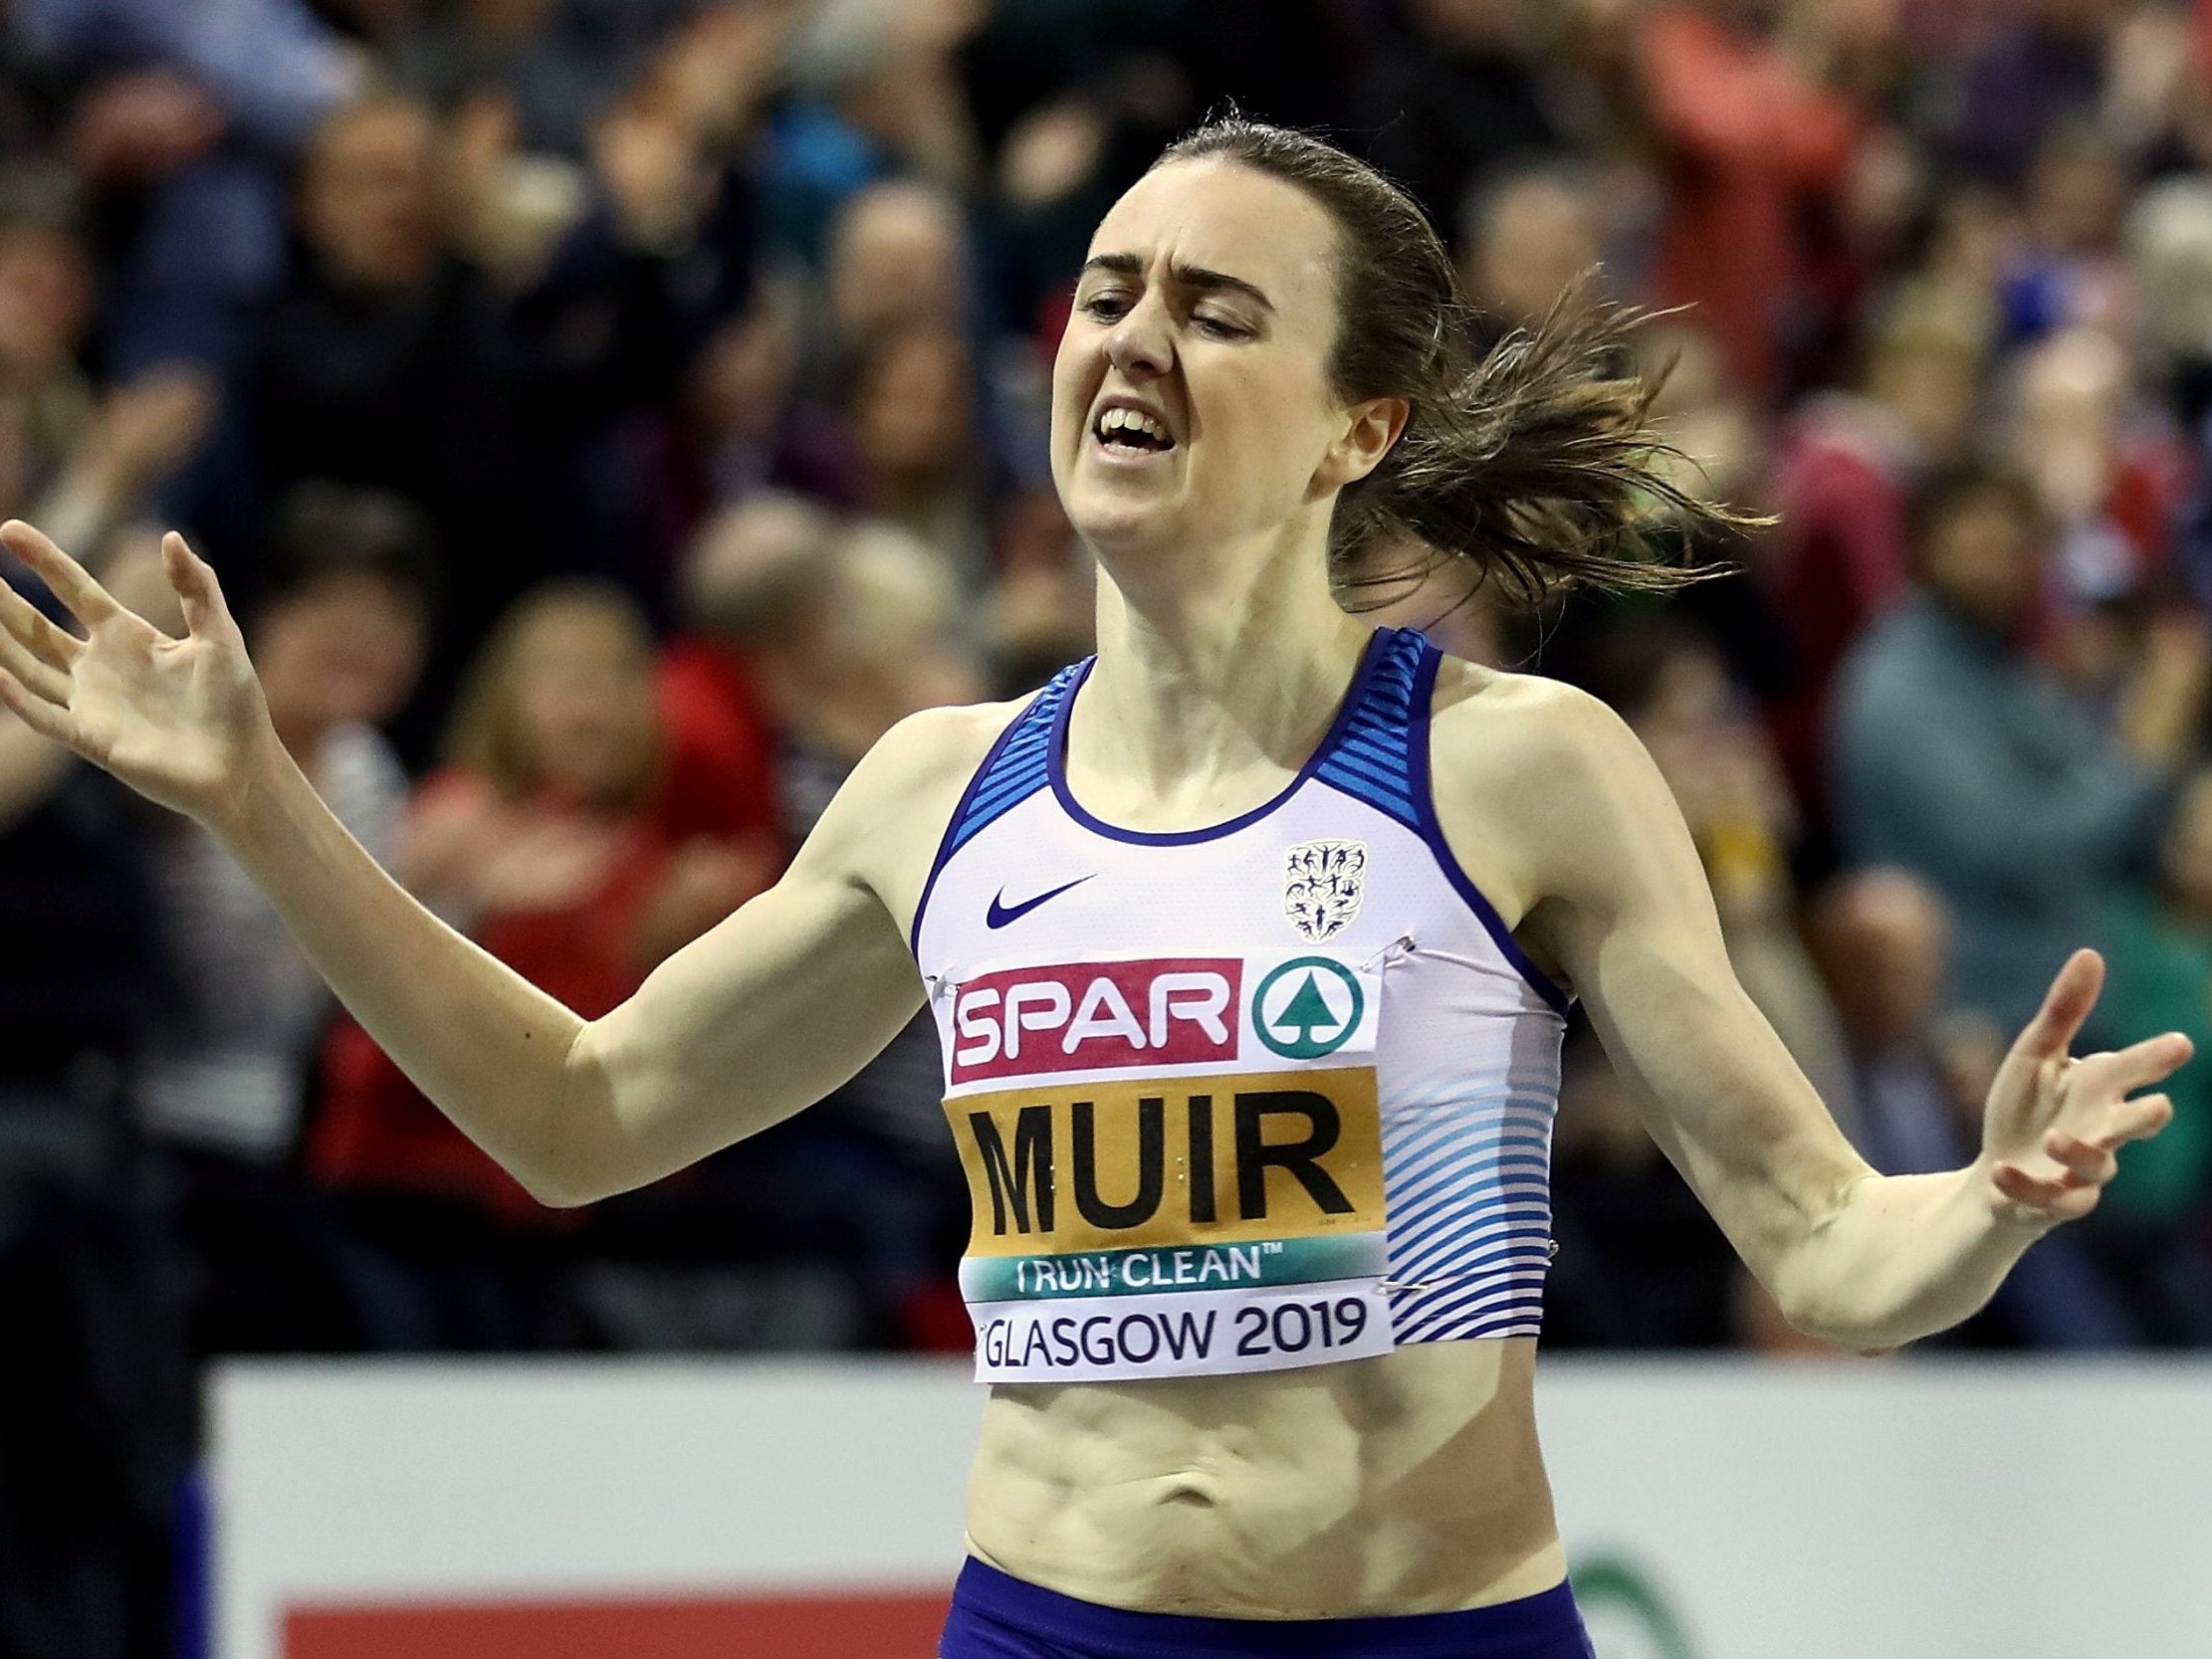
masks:
[[[1566,1577],[1535,1338],[1155,1383],[1000,1385],[969,1551],[1152,1613],[1451,1613]]]

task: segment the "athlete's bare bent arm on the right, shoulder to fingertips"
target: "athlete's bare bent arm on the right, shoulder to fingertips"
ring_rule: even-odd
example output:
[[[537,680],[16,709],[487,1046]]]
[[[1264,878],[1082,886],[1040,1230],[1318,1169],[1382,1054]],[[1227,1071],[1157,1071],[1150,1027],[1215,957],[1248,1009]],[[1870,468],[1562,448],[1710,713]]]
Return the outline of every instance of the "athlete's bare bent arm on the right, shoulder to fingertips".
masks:
[[[1955,1325],[2035,1239],[2095,1206],[2121,1141],[2170,1117],[2163,1095],[2126,1095],[2188,1060],[2188,1037],[2066,1057],[2104,978],[2077,951],[1991,1088],[1980,1157],[1876,1175],[1736,984],[1705,872],[1644,745],[1566,688],[1500,681],[1471,701],[1500,692],[1511,714],[1489,721],[1458,790],[1473,794],[1480,774],[1522,936],[1562,964],[1652,1137],[1798,1329],[1887,1349]],[[1478,721],[1438,719],[1447,830],[1471,816],[1451,799],[1453,743],[1473,743]]]

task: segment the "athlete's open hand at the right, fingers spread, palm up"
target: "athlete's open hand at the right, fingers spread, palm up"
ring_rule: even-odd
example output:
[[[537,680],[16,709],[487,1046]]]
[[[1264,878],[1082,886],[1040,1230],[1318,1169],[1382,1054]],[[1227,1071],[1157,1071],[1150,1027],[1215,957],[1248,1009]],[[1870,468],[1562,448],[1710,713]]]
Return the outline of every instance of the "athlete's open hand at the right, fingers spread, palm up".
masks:
[[[2112,1053],[2075,1060],[2075,1035],[2104,989],[2104,958],[2066,958],[2044,1006],[2013,1042],[1989,1086],[1982,1115],[1982,1166],[1993,1206],[2008,1221],[2051,1225],[2097,1208],[2117,1172],[2126,1141],[2143,1141],[2172,1121],[2166,1095],[2152,1088],[2190,1057],[2179,1031]]]

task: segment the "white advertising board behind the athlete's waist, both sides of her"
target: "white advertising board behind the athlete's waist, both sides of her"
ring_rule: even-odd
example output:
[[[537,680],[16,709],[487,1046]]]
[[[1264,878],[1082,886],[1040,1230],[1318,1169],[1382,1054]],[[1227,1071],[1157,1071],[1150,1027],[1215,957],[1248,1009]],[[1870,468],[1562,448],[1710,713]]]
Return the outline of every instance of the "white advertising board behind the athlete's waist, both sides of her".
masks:
[[[982,1391],[880,1363],[241,1363],[219,1659],[927,1659]],[[1601,1659],[2212,1655],[2212,1367],[1548,1360]]]

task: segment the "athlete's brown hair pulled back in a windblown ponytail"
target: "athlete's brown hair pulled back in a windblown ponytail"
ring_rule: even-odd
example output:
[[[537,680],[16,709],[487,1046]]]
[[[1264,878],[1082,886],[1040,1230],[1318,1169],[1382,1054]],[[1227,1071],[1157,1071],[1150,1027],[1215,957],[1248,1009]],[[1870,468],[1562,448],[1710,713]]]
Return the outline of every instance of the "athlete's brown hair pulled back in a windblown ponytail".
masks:
[[[1619,369],[1646,312],[1590,303],[1575,288],[1535,327],[1478,352],[1451,254],[1376,168],[1243,115],[1199,126],[1152,166],[1208,159],[1296,186],[1336,221],[1334,389],[1347,403],[1411,405],[1391,451],[1338,498],[1329,564],[1340,593],[1402,586],[1455,560],[1475,566],[1478,586],[1498,580],[1524,604],[1577,584],[1666,593],[1721,568],[1659,562],[1646,542],[1657,520],[1730,531],[1759,522],[1655,469],[1668,447],[1650,405],[1666,376]],[[1425,553],[1389,560],[1409,542]]]

